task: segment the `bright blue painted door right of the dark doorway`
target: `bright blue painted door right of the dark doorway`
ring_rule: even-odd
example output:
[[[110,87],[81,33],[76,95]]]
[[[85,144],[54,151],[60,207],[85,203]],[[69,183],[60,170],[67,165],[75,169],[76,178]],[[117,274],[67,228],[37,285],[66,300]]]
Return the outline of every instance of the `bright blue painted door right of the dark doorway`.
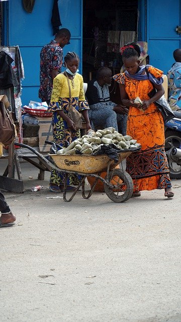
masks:
[[[173,51],[181,48],[180,0],[147,0],[147,42],[150,64],[166,74],[174,62]]]

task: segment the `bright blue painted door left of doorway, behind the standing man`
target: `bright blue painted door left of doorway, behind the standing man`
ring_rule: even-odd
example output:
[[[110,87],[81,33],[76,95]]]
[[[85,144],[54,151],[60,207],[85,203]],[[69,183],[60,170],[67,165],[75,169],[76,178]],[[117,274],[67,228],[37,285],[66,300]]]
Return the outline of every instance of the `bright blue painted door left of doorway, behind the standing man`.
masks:
[[[59,13],[62,27],[71,32],[70,45],[63,48],[82,55],[82,0],[59,0]],[[39,64],[41,48],[54,39],[52,35],[51,15],[53,0],[36,0],[31,14],[27,13],[22,1],[9,2],[9,43],[19,45],[22,54],[25,79],[22,82],[22,103],[27,105],[30,100],[40,101]],[[81,70],[81,65],[80,68]]]

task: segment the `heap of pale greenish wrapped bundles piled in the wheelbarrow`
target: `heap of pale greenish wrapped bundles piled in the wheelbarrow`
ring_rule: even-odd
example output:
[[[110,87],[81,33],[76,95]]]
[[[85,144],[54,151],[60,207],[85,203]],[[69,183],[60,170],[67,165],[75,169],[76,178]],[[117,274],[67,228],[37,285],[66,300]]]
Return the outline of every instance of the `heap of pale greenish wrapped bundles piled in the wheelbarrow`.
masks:
[[[140,147],[130,135],[122,135],[113,127],[94,132],[89,131],[88,134],[76,139],[66,148],[57,151],[57,154],[95,154],[103,144],[115,144],[120,150],[132,149]],[[78,150],[78,151],[77,151]]]

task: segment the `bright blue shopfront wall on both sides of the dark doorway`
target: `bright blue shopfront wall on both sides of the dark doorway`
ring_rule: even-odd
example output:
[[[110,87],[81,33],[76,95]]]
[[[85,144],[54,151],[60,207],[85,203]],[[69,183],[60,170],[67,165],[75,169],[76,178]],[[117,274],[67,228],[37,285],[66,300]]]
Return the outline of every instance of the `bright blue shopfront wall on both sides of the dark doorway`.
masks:
[[[86,1],[86,0],[84,0]],[[181,36],[175,32],[180,21],[181,0],[138,0],[140,10],[139,40],[148,42],[150,63],[167,72],[173,63],[172,52],[180,48]],[[22,82],[23,105],[30,100],[39,101],[39,55],[41,48],[54,38],[51,14],[53,0],[36,0],[32,14],[27,13],[20,0],[9,2],[9,30],[6,45],[19,45],[25,79]],[[82,58],[82,3],[83,0],[59,0],[59,13],[63,28],[71,32],[71,44],[63,48],[75,51]],[[8,4],[6,3],[6,6]]]

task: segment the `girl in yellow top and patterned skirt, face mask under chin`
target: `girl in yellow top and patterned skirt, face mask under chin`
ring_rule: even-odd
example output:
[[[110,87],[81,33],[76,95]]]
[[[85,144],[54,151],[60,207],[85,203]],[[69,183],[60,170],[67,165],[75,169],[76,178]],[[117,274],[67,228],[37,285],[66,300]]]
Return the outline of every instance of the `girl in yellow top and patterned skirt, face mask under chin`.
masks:
[[[53,90],[51,95],[50,105],[48,111],[53,112],[53,138],[54,142],[66,147],[72,141],[80,137],[80,130],[76,130],[72,120],[67,116],[69,103],[82,113],[87,131],[91,129],[91,124],[88,119],[87,110],[88,103],[85,101],[83,92],[83,78],[78,74],[79,58],[74,52],[68,52],[64,58],[66,66],[66,74],[60,73],[53,80]],[[69,98],[69,88],[67,82],[69,78],[71,99]],[[64,176],[52,171],[50,177],[49,188],[53,192],[63,190]],[[67,182],[67,190],[74,190],[71,185],[78,185],[79,180],[75,175],[69,175]]]

